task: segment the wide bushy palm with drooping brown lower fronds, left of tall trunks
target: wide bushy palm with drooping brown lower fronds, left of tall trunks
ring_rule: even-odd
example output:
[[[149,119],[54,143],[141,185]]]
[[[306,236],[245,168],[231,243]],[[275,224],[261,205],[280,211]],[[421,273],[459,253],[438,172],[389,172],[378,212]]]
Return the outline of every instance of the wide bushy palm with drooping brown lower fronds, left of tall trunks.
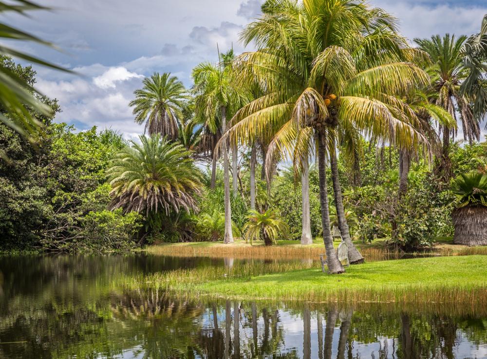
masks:
[[[131,141],[109,164],[110,208],[141,213],[158,230],[164,215],[197,209],[201,172],[182,145],[158,134],[139,139],[140,144]]]

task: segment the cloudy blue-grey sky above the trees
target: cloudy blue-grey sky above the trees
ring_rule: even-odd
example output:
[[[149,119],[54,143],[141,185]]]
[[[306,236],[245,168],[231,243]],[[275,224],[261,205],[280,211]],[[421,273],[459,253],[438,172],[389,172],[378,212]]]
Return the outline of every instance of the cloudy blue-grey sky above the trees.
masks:
[[[40,0],[39,0],[40,1]],[[78,130],[112,128],[128,139],[143,133],[129,102],[142,79],[171,72],[191,86],[191,69],[217,60],[233,46],[244,50],[239,33],[259,16],[261,0],[44,0],[52,11],[6,22],[56,44],[60,51],[29,43],[17,49],[74,70],[78,75],[36,67],[37,89],[57,98],[56,121]],[[487,0],[372,0],[399,19],[412,39],[445,33],[477,33]],[[483,126],[484,127],[484,126]]]

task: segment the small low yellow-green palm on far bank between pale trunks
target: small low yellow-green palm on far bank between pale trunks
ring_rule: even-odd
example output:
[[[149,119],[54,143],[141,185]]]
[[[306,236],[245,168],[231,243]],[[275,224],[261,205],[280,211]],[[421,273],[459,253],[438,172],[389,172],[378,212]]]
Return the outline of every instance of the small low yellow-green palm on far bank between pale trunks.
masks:
[[[248,215],[248,222],[245,225],[245,238],[253,243],[254,240],[263,239],[266,246],[277,244],[277,238],[287,237],[287,224],[280,215],[269,209],[263,213],[251,210]]]

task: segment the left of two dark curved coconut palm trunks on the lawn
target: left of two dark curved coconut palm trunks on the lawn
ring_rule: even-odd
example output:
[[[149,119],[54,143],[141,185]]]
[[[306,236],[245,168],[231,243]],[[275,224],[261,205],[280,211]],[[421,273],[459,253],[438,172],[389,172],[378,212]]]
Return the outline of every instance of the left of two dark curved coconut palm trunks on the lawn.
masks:
[[[325,138],[323,132],[318,132],[318,177],[319,177],[319,204],[321,207],[321,226],[323,228],[323,242],[326,249],[326,261],[328,273],[337,274],[345,272],[338,260],[337,252],[333,247],[332,233],[330,232],[330,213],[328,209],[328,194],[326,193],[326,168],[325,168]]]

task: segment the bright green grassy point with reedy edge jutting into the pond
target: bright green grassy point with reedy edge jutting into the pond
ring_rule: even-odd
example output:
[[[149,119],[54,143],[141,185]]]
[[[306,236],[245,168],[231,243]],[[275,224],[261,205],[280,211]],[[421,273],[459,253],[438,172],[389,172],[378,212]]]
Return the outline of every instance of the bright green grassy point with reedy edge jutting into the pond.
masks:
[[[277,266],[272,270],[236,266],[227,273],[186,270],[144,280],[146,287],[165,287],[192,296],[487,305],[487,256],[482,255],[365,263],[340,275],[323,274],[316,267],[293,270]]]

